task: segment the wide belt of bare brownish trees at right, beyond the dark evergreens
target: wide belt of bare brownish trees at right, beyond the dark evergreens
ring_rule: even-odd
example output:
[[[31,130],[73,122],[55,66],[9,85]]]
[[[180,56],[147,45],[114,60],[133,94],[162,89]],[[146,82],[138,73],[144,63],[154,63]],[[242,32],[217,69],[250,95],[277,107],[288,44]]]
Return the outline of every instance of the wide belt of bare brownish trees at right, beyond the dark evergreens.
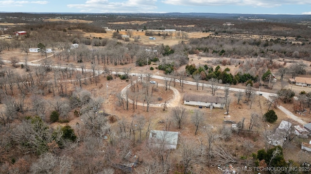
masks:
[[[201,51],[200,56],[207,57],[262,57],[262,58],[303,58],[310,60],[309,49],[311,44],[301,44],[290,41],[283,43],[274,40],[261,42],[259,39],[238,39],[212,36],[190,39],[190,53]]]

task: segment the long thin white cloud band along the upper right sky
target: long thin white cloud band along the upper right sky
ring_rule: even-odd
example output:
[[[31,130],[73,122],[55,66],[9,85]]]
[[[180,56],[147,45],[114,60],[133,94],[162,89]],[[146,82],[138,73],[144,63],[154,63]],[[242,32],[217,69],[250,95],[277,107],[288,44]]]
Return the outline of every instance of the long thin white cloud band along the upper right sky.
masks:
[[[285,4],[311,4],[311,0],[162,0],[172,5],[220,6],[239,5],[253,7],[277,7]]]

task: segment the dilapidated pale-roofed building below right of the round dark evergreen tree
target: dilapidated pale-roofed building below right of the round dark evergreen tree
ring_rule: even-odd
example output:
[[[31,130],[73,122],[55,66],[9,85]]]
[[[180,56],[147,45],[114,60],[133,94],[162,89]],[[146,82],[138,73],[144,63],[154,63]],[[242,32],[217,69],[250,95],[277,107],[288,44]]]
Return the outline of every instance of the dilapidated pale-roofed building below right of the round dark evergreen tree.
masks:
[[[292,123],[288,121],[282,120],[278,128],[276,128],[276,132],[268,137],[270,145],[280,145],[283,146],[284,142],[287,140],[287,136],[290,133],[290,128]]]

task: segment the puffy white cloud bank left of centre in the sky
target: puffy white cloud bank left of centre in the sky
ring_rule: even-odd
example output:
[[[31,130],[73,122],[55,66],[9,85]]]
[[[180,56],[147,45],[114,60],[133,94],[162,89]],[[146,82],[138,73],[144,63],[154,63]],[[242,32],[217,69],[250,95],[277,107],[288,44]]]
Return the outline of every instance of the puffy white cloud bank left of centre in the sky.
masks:
[[[84,4],[68,4],[69,8],[78,8],[80,12],[92,13],[154,13],[156,0],[86,0]]]

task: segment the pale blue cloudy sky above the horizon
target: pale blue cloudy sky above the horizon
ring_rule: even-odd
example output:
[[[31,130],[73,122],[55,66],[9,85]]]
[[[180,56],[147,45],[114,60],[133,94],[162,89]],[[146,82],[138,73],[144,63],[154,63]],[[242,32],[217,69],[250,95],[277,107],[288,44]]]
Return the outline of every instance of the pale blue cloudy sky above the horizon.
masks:
[[[0,0],[0,12],[311,14],[311,0]]]

